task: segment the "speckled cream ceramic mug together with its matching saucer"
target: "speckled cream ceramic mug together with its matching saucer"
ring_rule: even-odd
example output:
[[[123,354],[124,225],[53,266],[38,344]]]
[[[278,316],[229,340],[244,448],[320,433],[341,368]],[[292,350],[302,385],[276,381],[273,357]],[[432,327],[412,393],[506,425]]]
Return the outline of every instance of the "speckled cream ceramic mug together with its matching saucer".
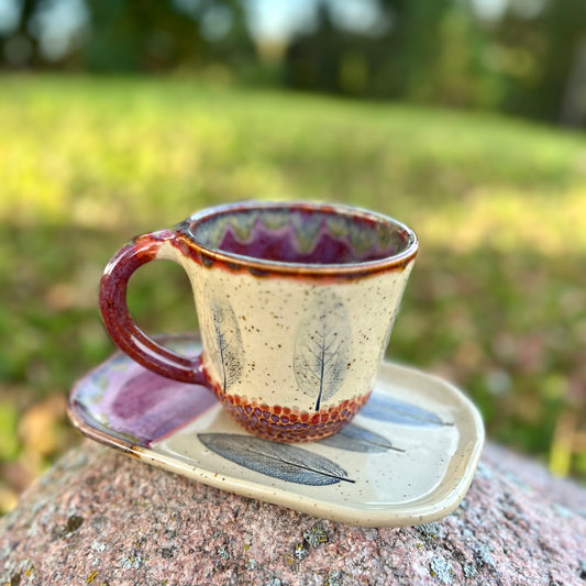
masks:
[[[440,519],[484,427],[452,384],[384,360],[417,251],[391,218],[313,202],[220,206],[137,236],[100,286],[121,352],[76,384],[69,418],[145,464],[324,519]],[[199,332],[134,323],[128,284],[155,259],[188,274]]]

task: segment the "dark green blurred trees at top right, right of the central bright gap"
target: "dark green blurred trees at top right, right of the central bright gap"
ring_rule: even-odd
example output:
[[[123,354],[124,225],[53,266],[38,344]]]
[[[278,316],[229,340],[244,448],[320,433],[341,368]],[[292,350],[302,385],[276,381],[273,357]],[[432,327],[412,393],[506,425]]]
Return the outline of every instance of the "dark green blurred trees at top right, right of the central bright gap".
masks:
[[[289,87],[550,121],[586,118],[584,0],[508,0],[494,20],[475,0],[377,0],[386,26],[361,33],[335,27],[331,3],[317,1],[316,30],[286,52]],[[563,114],[568,104],[572,113]]]

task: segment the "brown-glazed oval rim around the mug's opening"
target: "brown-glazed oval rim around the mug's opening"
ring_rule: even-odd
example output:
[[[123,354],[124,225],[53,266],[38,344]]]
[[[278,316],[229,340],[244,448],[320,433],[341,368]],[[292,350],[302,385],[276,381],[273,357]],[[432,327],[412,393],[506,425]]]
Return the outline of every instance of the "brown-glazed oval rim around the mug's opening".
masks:
[[[237,211],[254,211],[254,210],[276,210],[276,209],[297,209],[308,212],[316,211],[322,213],[342,214],[346,218],[356,218],[363,220],[369,220],[379,224],[391,225],[396,230],[402,233],[406,240],[406,246],[397,254],[384,256],[374,261],[354,261],[351,263],[331,263],[331,264],[318,264],[318,263],[295,263],[288,261],[274,261],[266,258],[258,258],[255,256],[222,251],[213,246],[208,246],[201,241],[196,240],[192,226],[200,224],[211,218],[223,215],[230,212]],[[417,234],[407,224],[391,218],[389,215],[350,206],[345,203],[327,203],[314,201],[258,201],[258,200],[244,200],[235,203],[224,203],[220,206],[213,206],[199,210],[192,213],[189,218],[180,222],[177,226],[177,231],[184,234],[190,246],[196,251],[208,257],[213,262],[221,262],[229,267],[233,268],[247,268],[258,275],[265,275],[269,273],[278,274],[302,274],[310,276],[363,276],[373,273],[379,273],[383,270],[405,268],[417,256],[419,248],[419,241]]]

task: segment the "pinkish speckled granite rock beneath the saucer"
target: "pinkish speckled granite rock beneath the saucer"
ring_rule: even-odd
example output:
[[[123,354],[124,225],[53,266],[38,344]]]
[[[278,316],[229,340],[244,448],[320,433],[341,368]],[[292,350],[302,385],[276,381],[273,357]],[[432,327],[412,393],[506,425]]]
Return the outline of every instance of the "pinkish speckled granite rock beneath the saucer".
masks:
[[[0,519],[0,585],[586,585],[585,510],[581,487],[493,445],[445,519],[366,529],[85,441]]]

